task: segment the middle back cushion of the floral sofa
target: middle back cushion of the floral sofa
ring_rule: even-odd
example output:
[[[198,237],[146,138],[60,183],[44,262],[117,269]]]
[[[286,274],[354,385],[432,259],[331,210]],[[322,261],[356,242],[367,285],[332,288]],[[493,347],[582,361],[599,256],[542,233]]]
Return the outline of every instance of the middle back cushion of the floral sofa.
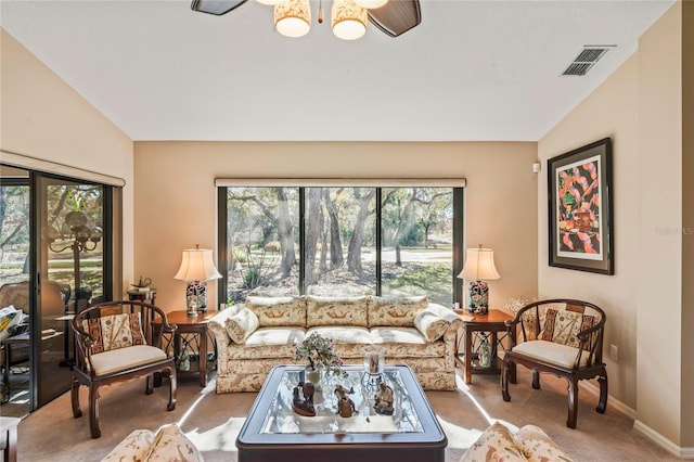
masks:
[[[318,297],[306,300],[306,326],[354,325],[367,326],[368,297]]]

